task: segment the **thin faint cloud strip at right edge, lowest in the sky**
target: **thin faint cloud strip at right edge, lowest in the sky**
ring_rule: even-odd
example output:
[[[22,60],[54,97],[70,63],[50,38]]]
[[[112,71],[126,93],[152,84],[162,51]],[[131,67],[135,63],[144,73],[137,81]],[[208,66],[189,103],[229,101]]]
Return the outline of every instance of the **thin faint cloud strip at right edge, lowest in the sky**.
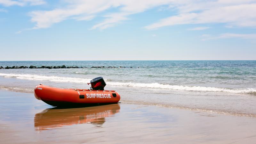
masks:
[[[241,34],[241,33],[222,33],[216,37],[207,37],[203,40],[214,40],[214,39],[230,39],[230,38],[242,38],[247,40],[256,40],[256,34]]]

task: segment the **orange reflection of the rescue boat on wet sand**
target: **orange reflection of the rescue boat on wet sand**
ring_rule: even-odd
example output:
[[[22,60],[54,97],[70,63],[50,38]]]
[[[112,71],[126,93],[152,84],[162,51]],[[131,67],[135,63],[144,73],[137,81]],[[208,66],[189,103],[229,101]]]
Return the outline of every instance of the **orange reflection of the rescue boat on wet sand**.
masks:
[[[46,109],[34,117],[36,130],[54,129],[62,126],[91,123],[101,126],[106,117],[120,110],[119,104],[108,104],[84,108]]]

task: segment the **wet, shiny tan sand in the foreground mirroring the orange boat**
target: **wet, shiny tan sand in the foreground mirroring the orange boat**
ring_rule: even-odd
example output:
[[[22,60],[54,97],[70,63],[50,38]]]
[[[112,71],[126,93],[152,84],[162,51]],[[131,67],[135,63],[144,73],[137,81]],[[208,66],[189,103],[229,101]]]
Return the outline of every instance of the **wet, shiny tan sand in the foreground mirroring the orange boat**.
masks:
[[[255,143],[256,118],[140,104],[54,108],[0,90],[0,143]]]

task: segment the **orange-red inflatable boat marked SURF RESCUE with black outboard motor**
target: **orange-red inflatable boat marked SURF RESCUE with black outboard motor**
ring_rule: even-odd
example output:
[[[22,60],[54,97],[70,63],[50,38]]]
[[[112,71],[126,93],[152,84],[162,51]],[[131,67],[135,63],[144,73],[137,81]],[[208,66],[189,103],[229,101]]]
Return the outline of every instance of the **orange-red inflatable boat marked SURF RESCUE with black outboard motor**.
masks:
[[[106,83],[102,77],[93,79],[91,85],[91,90],[85,90],[60,89],[40,84],[35,88],[35,97],[52,106],[80,106],[119,102],[120,95],[116,91],[104,90]]]

